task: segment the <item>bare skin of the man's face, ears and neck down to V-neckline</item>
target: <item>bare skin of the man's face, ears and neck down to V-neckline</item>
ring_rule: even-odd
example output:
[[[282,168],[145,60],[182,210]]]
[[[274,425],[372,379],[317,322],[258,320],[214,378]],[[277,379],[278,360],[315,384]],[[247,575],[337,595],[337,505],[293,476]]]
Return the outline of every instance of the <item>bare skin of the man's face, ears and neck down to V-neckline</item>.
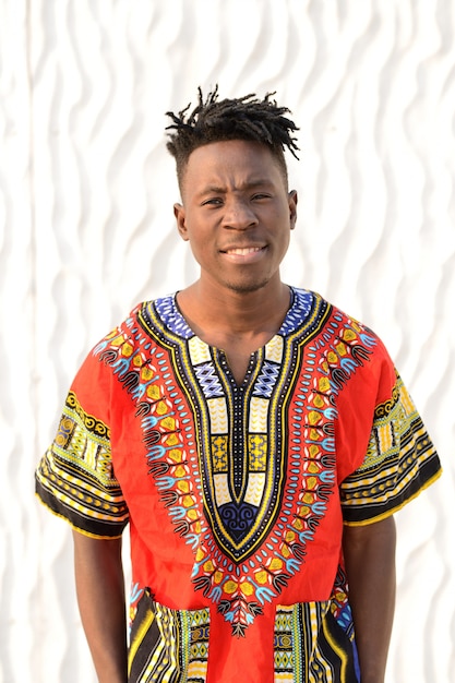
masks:
[[[223,159],[223,164],[219,159]],[[195,149],[175,205],[178,230],[201,266],[179,292],[194,332],[223,349],[240,384],[250,356],[279,329],[289,289],[279,264],[297,216],[297,193],[264,145],[229,141]]]

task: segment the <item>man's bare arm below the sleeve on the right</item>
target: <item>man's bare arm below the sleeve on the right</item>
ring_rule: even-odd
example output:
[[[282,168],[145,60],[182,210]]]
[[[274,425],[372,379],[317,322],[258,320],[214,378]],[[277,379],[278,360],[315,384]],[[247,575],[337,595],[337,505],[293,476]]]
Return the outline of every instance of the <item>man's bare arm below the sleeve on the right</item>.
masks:
[[[362,683],[383,683],[395,610],[394,518],[345,527],[343,550]]]

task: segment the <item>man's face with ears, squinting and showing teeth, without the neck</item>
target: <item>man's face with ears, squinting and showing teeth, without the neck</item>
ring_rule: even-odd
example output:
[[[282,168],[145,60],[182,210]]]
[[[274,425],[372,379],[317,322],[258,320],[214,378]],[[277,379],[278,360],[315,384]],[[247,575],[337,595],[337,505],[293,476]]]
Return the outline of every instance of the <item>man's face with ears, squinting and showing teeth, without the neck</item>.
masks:
[[[197,147],[181,185],[183,205],[175,205],[175,215],[201,280],[237,292],[279,281],[297,193],[288,193],[265,145],[232,140]]]

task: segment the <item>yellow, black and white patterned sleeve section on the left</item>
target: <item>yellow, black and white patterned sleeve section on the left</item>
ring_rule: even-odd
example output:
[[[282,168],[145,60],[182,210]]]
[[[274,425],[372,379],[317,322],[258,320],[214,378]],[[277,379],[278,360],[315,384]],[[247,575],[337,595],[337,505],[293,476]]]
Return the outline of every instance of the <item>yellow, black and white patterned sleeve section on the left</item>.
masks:
[[[82,384],[84,367],[79,373]],[[97,538],[118,538],[129,512],[116,479],[106,422],[68,394],[56,438],[36,470],[36,493],[73,528]]]

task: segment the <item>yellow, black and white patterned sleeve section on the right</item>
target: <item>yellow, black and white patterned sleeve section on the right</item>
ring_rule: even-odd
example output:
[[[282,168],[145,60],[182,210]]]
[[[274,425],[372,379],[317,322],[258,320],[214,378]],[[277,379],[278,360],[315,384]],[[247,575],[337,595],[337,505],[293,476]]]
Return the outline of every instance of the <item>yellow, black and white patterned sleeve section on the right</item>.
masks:
[[[345,524],[363,525],[392,515],[440,474],[434,445],[396,373],[390,398],[374,409],[363,463],[340,484]]]

